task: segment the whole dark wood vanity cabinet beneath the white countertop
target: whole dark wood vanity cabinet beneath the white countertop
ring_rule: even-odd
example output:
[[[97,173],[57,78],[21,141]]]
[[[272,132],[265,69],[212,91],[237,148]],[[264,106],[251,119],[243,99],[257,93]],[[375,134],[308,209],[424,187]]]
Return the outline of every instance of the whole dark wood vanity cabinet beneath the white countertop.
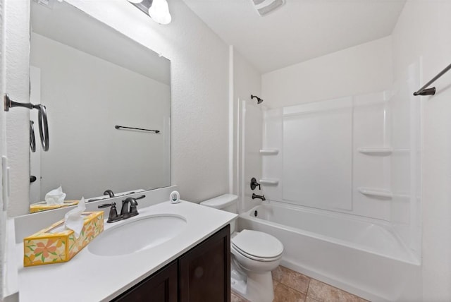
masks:
[[[113,301],[230,302],[230,226]]]

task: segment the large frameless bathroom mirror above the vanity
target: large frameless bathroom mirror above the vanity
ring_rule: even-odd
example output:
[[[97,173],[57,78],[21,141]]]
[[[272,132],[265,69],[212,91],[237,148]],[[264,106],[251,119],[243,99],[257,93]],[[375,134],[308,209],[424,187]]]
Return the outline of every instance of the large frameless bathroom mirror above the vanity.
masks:
[[[170,186],[171,62],[66,2],[30,1],[30,98],[50,136],[30,152],[30,203],[59,186],[66,200]]]

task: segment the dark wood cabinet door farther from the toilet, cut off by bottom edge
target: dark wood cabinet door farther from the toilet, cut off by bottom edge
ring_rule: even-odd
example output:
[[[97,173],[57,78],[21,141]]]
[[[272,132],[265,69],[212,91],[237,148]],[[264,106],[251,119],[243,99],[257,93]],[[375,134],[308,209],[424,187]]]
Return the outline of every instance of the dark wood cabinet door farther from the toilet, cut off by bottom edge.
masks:
[[[112,301],[121,302],[177,302],[178,301],[177,260],[133,286]]]

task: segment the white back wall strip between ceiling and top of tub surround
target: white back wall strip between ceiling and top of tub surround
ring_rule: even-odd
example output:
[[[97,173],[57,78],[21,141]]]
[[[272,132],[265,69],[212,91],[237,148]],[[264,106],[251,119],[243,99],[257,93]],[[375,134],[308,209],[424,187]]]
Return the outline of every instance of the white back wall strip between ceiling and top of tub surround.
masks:
[[[361,95],[392,84],[391,37],[264,73],[261,94],[269,108]]]

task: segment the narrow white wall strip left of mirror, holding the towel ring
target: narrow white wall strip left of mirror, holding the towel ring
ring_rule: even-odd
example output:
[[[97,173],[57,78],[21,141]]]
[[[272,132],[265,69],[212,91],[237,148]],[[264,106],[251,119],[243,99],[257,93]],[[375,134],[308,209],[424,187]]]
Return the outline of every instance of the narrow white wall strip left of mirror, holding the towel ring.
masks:
[[[30,1],[5,2],[6,38],[6,92],[18,102],[28,102],[30,95]],[[11,167],[11,193],[8,216],[28,212],[28,184],[30,182],[30,158],[28,131],[30,112],[28,109],[14,108],[5,114],[6,137],[2,145],[8,145],[8,163]]]

